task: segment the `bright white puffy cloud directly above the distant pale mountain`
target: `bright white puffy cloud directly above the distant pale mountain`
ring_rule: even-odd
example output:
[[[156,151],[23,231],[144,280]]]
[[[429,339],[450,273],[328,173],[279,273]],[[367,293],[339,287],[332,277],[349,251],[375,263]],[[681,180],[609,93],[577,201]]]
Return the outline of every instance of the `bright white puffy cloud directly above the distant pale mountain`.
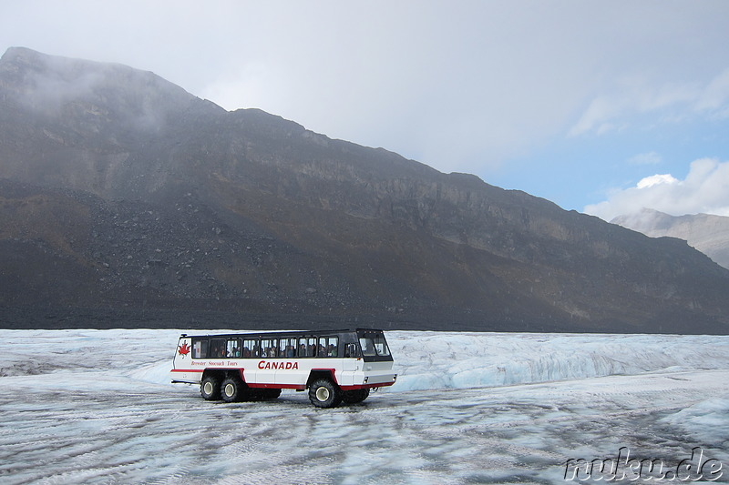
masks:
[[[585,207],[584,212],[610,221],[643,207],[673,216],[729,216],[729,162],[715,158],[694,160],[684,180],[671,174],[645,177],[635,187],[615,190],[608,200]]]

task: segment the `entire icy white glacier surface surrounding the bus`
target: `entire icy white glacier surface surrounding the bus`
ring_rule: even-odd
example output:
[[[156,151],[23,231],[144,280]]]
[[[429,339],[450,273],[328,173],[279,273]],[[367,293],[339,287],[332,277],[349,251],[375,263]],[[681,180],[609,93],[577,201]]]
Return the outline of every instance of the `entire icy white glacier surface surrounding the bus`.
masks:
[[[729,482],[729,337],[388,332],[395,386],[317,409],[170,384],[179,333],[0,330],[0,483]]]

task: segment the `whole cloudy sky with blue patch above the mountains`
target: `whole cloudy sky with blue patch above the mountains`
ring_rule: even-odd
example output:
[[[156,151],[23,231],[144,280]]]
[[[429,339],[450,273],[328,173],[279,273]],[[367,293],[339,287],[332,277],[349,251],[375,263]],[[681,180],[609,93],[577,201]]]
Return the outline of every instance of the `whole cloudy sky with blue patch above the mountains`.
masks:
[[[606,220],[729,216],[728,22],[724,0],[0,0],[0,51],[153,71]]]

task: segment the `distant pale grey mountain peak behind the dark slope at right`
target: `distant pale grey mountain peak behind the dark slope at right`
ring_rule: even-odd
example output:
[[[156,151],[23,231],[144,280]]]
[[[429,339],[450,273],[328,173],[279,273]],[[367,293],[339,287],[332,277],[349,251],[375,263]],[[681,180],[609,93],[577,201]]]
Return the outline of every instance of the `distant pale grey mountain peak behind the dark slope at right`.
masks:
[[[729,217],[709,214],[677,217],[642,208],[639,212],[615,217],[611,222],[650,237],[684,239],[717,264],[729,268]]]

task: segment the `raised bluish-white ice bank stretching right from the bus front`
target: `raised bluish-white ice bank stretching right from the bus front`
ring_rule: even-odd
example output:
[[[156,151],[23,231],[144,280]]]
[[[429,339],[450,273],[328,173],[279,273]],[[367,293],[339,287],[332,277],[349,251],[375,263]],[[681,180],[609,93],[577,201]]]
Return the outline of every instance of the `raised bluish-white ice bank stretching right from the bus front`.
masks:
[[[729,369],[729,338],[389,332],[399,390],[473,388],[678,369]]]

